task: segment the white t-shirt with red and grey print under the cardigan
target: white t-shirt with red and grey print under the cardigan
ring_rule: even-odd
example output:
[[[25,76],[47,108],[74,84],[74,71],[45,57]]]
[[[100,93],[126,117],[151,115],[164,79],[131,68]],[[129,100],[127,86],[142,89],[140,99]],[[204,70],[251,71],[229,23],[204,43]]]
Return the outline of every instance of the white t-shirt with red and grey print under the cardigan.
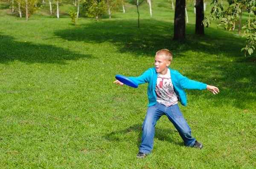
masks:
[[[157,73],[157,85],[155,89],[157,102],[166,106],[177,104],[177,95],[174,92],[170,70],[167,74]]]

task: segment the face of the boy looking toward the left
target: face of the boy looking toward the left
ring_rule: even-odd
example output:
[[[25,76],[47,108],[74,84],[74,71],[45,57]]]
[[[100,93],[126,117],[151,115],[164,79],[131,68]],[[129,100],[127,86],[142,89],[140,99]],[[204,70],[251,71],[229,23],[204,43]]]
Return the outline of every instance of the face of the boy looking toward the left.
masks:
[[[168,71],[168,66],[171,64],[170,61],[166,60],[165,56],[156,55],[155,56],[155,68],[157,70],[157,73],[160,73],[162,75],[165,75]]]

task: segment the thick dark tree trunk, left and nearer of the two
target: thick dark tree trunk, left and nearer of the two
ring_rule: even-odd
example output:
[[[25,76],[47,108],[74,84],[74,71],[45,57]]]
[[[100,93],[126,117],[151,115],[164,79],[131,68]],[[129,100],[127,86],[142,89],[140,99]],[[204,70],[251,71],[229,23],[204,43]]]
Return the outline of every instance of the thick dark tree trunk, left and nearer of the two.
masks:
[[[185,36],[185,0],[176,0],[174,18],[174,40],[184,40]]]

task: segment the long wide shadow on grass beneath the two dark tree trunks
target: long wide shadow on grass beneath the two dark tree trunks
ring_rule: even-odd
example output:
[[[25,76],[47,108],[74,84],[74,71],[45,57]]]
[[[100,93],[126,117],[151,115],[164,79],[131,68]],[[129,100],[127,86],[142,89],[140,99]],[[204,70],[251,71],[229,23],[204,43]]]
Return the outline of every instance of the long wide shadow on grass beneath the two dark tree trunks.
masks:
[[[187,29],[194,29],[194,25],[187,25]],[[208,28],[213,30],[213,28]],[[74,33],[74,31],[76,33]],[[173,23],[158,20],[140,20],[140,28],[137,28],[137,20],[101,20],[80,28],[56,31],[55,34],[63,39],[84,41],[90,43],[111,42],[121,53],[133,53],[135,56],[150,54],[154,56],[160,48],[170,49],[175,56],[182,56],[186,51],[198,51],[209,54],[225,54],[241,57],[239,49],[244,42],[241,38],[215,32],[215,36],[197,36],[188,34],[184,41],[172,40]],[[209,40],[211,43],[209,43]],[[204,43],[206,42],[206,43]],[[216,48],[218,50],[212,50]]]

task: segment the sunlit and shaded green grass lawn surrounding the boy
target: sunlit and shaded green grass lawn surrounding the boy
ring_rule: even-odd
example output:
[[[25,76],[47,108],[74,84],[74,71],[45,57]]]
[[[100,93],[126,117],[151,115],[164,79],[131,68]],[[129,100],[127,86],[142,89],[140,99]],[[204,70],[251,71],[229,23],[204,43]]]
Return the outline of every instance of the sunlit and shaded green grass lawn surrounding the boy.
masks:
[[[46,9],[26,22],[0,5],[1,168],[256,167],[256,57],[240,52],[245,39],[234,35],[237,30],[213,23],[204,37],[196,36],[188,5],[186,41],[175,42],[174,11],[163,0],[152,2],[152,18],[148,5],[140,6],[140,28],[129,3],[125,14],[82,18],[78,26]],[[113,81],[116,74],[139,76],[153,67],[161,48],[172,51],[172,69],[220,93],[186,90],[188,105],[180,105],[203,149],[184,146],[163,116],[152,153],[140,160],[147,85]]]

